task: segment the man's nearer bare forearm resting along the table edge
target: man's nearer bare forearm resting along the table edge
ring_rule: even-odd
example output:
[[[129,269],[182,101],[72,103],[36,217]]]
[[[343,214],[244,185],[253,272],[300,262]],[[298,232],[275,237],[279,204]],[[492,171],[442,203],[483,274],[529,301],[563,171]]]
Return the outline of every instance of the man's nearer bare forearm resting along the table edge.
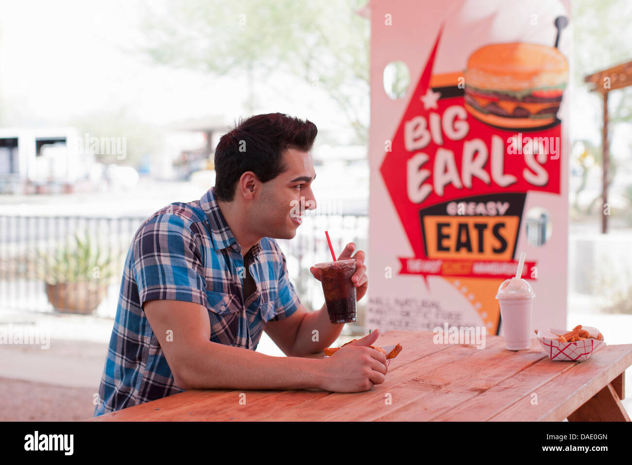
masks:
[[[186,389],[320,388],[322,360],[271,357],[208,342],[192,349],[181,370]]]

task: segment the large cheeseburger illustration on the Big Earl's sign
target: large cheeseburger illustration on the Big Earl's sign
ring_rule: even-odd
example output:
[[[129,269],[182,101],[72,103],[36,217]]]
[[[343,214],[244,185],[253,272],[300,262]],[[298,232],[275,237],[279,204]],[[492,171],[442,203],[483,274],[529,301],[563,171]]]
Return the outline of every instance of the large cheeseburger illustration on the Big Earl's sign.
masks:
[[[481,47],[468,59],[465,108],[501,129],[552,125],[566,87],[568,62],[557,48],[516,42]]]

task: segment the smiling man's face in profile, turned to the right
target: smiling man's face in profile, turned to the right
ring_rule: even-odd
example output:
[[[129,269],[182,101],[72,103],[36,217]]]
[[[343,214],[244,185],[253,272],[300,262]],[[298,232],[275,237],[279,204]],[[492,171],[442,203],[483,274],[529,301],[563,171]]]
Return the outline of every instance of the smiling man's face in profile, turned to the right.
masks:
[[[316,208],[311,187],[316,172],[310,152],[288,149],[283,158],[288,169],[262,185],[257,211],[252,213],[264,237],[292,239],[305,210]]]

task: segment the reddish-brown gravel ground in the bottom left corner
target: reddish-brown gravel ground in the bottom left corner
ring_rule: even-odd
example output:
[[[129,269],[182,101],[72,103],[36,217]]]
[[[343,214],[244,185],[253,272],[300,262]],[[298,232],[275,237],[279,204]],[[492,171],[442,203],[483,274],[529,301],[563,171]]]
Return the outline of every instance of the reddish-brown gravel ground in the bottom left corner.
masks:
[[[94,388],[0,378],[0,421],[82,421],[94,414]]]

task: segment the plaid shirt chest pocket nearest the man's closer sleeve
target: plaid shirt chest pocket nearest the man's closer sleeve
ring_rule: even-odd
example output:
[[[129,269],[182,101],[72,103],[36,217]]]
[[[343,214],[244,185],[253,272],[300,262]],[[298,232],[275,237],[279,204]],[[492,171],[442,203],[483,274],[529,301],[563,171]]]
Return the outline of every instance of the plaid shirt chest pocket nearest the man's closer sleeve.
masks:
[[[210,322],[210,341],[248,348],[248,337],[243,335],[243,308],[233,294],[206,292]]]

